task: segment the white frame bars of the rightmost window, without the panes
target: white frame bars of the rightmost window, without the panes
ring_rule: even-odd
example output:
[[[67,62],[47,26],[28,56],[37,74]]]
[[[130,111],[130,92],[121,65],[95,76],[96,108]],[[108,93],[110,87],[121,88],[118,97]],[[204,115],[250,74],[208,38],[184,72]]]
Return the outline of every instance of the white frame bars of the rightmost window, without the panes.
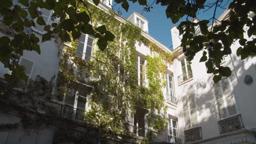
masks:
[[[224,92],[223,92],[224,90],[223,90],[223,86],[222,86],[222,82],[221,82],[223,79],[227,79],[228,82],[229,82],[230,91],[231,91],[229,95],[225,95]],[[223,94],[223,96],[222,96],[221,99],[217,99],[217,98],[216,98],[216,92],[214,91],[214,89],[215,89],[216,87],[215,87],[214,84],[213,84],[213,87],[214,87],[214,89],[213,89],[214,100],[215,100],[216,110],[217,110],[217,113],[218,113],[218,116],[217,116],[217,117],[218,117],[219,121],[240,114],[240,113],[238,112],[238,109],[237,109],[237,103],[236,103],[235,96],[234,96],[234,94],[232,94],[232,86],[231,86],[230,80],[229,80],[228,77],[224,77],[223,79],[218,82],[219,85],[220,85],[220,91],[221,91],[222,94]],[[232,115],[229,114],[229,111],[228,111],[228,104],[227,104],[227,102],[226,102],[226,98],[227,98],[227,97],[230,97],[231,95],[232,95],[232,98],[233,98],[233,100],[234,100],[235,107],[236,107],[236,113],[234,113],[234,114],[232,114]],[[220,113],[220,112],[219,112],[219,109],[218,109],[218,101],[220,101],[220,100],[222,100],[222,99],[223,99],[223,102],[224,102],[225,112],[226,112],[226,117],[223,117],[223,118],[221,118],[221,117],[219,116],[219,113]]]

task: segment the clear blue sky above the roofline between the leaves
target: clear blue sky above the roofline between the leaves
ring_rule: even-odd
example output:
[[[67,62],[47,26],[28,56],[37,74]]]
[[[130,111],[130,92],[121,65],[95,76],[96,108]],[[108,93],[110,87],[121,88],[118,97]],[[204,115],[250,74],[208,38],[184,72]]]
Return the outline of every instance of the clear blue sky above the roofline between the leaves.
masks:
[[[177,0],[179,1],[179,0]],[[216,0],[208,0],[206,3],[212,3]],[[153,0],[147,0],[148,3],[152,3]],[[223,4],[225,5],[225,8],[228,7],[229,3],[231,2],[231,0],[224,0]],[[113,2],[113,5],[115,4],[115,2]],[[121,8],[121,5],[115,5],[114,9],[115,11],[121,10],[121,14],[127,19],[127,17],[129,17],[133,11],[136,11],[139,14],[142,14],[142,10],[143,10],[143,5],[139,5],[138,2],[136,3],[132,3],[129,2],[130,7],[129,10],[126,11]],[[149,27],[149,34],[152,35],[154,38],[158,39],[159,41],[161,41],[162,44],[165,44],[167,47],[172,46],[172,39],[171,39],[171,30],[170,28],[174,25],[171,21],[171,19],[167,19],[166,14],[165,14],[165,9],[166,6],[161,6],[160,4],[154,4],[153,9],[150,12],[146,12],[144,11],[142,16],[145,17],[149,23],[148,23],[148,27]],[[217,13],[216,13],[216,17],[218,18],[224,11],[225,9],[222,8],[218,8],[217,9]],[[213,16],[213,11],[214,8],[211,8],[210,10],[203,12],[204,10],[200,10],[199,13],[197,14],[197,18],[199,18],[200,20],[208,20]],[[184,20],[185,18],[181,19],[179,22],[181,22],[182,20]],[[179,25],[179,22],[175,23],[176,26]],[[211,23],[211,22],[210,22]],[[210,24],[209,23],[209,24]],[[172,49],[172,48],[171,48]]]

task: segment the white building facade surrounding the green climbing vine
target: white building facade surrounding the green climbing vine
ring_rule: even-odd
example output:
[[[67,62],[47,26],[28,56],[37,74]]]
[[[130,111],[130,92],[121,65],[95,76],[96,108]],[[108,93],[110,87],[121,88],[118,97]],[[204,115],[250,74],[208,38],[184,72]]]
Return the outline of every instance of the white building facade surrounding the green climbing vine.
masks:
[[[101,1],[98,8],[109,10],[109,2],[112,3],[112,1]],[[51,14],[51,11],[44,12],[45,15]],[[225,11],[219,19],[225,19],[227,16],[228,11]],[[165,52],[178,53],[178,57],[174,59],[174,62],[167,64],[165,74],[166,87],[162,88],[165,96],[165,106],[167,107],[164,115],[168,125],[165,131],[156,134],[154,143],[256,143],[256,116],[254,112],[256,110],[256,84],[253,81],[256,78],[256,57],[248,57],[241,61],[236,56],[236,50],[240,47],[236,41],[231,47],[232,54],[225,57],[222,62],[223,66],[230,67],[232,74],[230,77],[225,77],[215,84],[212,80],[212,74],[206,73],[205,64],[199,63],[202,52],[197,53],[193,61],[187,61],[180,47],[181,36],[179,36],[176,26],[171,28],[174,49],[172,51],[148,34],[148,21],[143,16],[132,13],[127,20],[123,17],[117,17],[117,19],[121,22],[130,21],[140,27],[143,30],[142,35]],[[44,31],[39,27],[34,28],[34,31],[37,37],[41,39]],[[80,52],[77,55],[85,61],[90,61],[90,55],[93,52],[93,40],[94,37],[88,34],[82,35],[79,39],[78,50]],[[146,56],[152,54],[149,47],[141,43],[141,41],[137,41],[135,46],[137,51],[138,85],[147,86],[145,76]],[[25,51],[19,63],[25,67],[25,73],[29,79],[36,80],[37,75],[40,75],[47,81],[56,83],[61,59],[58,56],[58,52],[63,45],[60,44],[60,41],[53,39],[41,43],[40,47],[40,55],[34,51]],[[3,83],[1,85],[7,85],[3,79],[3,75],[6,73],[10,73],[10,71],[3,68],[3,64],[0,63],[0,77]],[[56,104],[55,107],[59,110],[59,114],[61,113],[63,117],[70,117],[72,121],[76,121],[77,115],[80,115],[81,111],[90,109],[88,106],[90,101],[89,91],[93,86],[85,80],[84,83],[74,82],[71,87],[72,97],[62,101],[51,99],[47,103]],[[25,90],[22,89],[22,91],[26,91],[26,88]],[[36,102],[40,103],[40,100],[44,99],[37,99]],[[26,109],[31,108],[26,104],[25,107]],[[28,132],[23,128],[24,125],[20,124],[22,118],[16,115],[15,110],[8,111],[9,107],[2,108],[0,111],[0,123],[2,125],[0,143],[54,143],[53,135],[56,134],[56,128],[38,130],[32,127],[30,128],[31,131]],[[75,114],[73,114],[74,110]],[[33,111],[30,111],[30,113],[31,115],[38,114],[33,113]],[[42,113],[45,114],[46,112]],[[137,131],[131,128],[131,132],[138,137],[137,142],[140,142],[146,136],[147,119],[145,115],[146,111],[142,109],[130,119],[133,126],[143,129],[142,131]],[[28,121],[28,123],[32,122]],[[28,124],[28,126],[30,125]],[[79,125],[71,135],[77,134],[78,131],[88,133],[86,127]],[[93,131],[92,133],[96,132]],[[120,137],[111,138],[110,140],[111,143],[119,143],[121,141]],[[104,143],[98,137],[93,140],[88,138],[88,142]],[[61,143],[75,142],[63,139]],[[124,143],[132,142],[126,141]]]

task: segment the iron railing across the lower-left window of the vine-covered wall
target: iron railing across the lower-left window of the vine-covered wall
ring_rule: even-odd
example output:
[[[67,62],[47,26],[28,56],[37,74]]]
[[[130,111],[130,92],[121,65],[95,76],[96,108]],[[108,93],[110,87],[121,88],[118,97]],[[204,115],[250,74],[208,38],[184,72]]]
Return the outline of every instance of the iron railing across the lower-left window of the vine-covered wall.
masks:
[[[73,106],[61,105],[61,116],[68,119],[83,119],[83,109],[75,109]]]

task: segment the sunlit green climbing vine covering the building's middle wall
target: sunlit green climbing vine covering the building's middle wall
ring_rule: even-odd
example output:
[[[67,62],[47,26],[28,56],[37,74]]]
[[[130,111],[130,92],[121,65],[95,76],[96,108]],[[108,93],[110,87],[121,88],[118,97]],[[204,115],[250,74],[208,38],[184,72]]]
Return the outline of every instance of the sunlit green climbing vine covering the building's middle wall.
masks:
[[[135,114],[138,106],[148,111],[147,118],[152,130],[164,130],[166,121],[160,116],[160,111],[164,109],[163,79],[166,64],[173,61],[174,55],[145,39],[139,27],[115,19],[112,11],[106,13],[95,6],[91,6],[89,10],[94,28],[104,25],[101,28],[113,33],[115,39],[113,42],[108,41],[108,47],[104,51],[96,46],[96,39],[90,61],[75,55],[78,40],[72,40],[70,45],[60,49],[62,59],[57,87],[67,87],[69,82],[81,81],[78,77],[83,72],[86,77],[92,77],[89,82],[94,86],[90,94],[90,110],[84,113],[84,119],[87,124],[104,131],[106,136],[133,136],[125,119],[128,115]],[[138,86],[136,41],[144,41],[144,44],[147,42],[150,50],[156,52],[152,53],[153,56],[147,56],[148,87]],[[66,91],[68,89],[61,92]]]

